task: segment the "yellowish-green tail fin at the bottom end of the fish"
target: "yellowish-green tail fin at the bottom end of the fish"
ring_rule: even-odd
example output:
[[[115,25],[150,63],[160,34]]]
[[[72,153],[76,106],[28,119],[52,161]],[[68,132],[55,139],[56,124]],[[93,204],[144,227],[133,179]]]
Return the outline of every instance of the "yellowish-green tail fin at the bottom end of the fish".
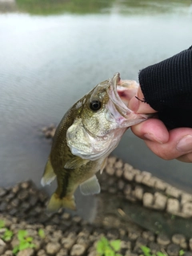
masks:
[[[60,208],[68,208],[68,209],[73,209],[76,210],[76,205],[74,202],[74,196],[72,197],[62,197],[59,198],[58,195],[56,193],[54,193],[51,197],[50,197],[50,201],[47,205],[47,211],[48,213],[50,212],[57,212],[58,209]]]

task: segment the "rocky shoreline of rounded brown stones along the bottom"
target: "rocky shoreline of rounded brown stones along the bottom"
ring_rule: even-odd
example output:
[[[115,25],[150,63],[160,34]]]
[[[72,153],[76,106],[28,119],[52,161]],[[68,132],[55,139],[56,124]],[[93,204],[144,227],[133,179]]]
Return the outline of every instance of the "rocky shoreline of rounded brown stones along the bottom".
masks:
[[[25,229],[37,247],[21,250],[18,256],[97,256],[95,245],[103,235],[109,240],[121,239],[120,253],[124,256],[142,254],[141,246],[150,247],[152,253],[162,251],[178,256],[183,250],[184,256],[192,256],[191,213],[190,208],[184,207],[191,204],[192,195],[114,156],[109,157],[98,180],[102,192],[96,196],[98,212],[92,223],[65,210],[47,216],[49,198],[31,181],[1,188],[0,219],[14,232],[14,237],[8,243],[0,240],[0,254],[13,255],[10,249],[18,242],[17,232]],[[178,211],[173,203],[176,201]],[[166,228],[170,230],[171,226],[172,234],[167,234]],[[39,228],[46,238],[38,238]]]

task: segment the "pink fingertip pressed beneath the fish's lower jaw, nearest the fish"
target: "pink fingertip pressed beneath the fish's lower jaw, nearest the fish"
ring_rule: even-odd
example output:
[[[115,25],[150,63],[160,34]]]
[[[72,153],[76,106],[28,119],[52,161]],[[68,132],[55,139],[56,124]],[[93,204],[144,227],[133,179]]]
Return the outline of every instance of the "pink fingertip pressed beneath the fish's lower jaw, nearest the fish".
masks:
[[[161,120],[151,118],[131,127],[132,132],[142,140],[151,140],[160,144],[169,140],[169,132]]]

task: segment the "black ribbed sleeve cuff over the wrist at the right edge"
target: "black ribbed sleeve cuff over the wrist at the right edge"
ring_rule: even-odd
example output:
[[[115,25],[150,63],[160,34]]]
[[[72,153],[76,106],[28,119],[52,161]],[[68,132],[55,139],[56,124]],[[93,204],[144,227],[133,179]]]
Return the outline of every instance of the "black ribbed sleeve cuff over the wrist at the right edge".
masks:
[[[168,128],[192,128],[192,47],[138,75],[146,103]]]

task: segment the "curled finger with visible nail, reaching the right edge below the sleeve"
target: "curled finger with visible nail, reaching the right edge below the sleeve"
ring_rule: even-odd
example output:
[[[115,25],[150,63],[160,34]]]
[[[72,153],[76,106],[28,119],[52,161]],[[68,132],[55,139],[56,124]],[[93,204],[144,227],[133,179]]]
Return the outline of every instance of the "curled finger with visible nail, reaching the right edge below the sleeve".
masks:
[[[150,150],[162,159],[178,159],[178,157],[184,156],[192,152],[192,129],[176,128],[174,130],[171,130],[170,138],[164,144],[158,144],[150,140],[146,140],[145,142]]]

